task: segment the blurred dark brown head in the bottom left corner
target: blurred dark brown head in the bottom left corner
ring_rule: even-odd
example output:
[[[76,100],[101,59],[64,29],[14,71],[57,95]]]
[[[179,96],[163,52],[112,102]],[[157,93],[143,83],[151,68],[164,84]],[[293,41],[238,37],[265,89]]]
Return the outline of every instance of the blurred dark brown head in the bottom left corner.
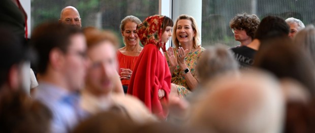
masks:
[[[0,132],[49,132],[51,119],[45,105],[21,91],[0,97]]]

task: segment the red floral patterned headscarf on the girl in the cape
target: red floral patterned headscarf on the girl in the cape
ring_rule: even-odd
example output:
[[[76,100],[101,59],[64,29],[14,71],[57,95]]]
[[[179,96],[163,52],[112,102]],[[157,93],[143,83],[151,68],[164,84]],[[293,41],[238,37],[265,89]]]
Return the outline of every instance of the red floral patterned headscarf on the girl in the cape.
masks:
[[[162,30],[163,30],[163,20],[162,15],[153,15],[147,17],[141,24],[138,24],[137,34],[142,43],[154,44],[158,49],[162,48],[165,52],[165,43],[162,44]]]

